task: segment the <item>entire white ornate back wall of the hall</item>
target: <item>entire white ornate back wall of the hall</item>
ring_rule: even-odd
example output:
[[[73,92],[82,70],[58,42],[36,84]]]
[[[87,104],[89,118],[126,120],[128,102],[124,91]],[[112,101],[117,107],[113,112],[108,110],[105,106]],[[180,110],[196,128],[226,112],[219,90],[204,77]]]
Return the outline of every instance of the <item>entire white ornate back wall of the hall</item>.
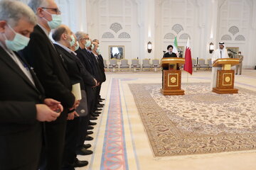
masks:
[[[21,0],[27,3],[29,0]],[[186,47],[193,58],[208,59],[209,44],[239,47],[244,68],[256,65],[256,0],[55,0],[63,23],[100,40],[108,61],[109,45],[124,45],[124,57],[160,59],[167,45]],[[148,53],[147,42],[153,50]]]

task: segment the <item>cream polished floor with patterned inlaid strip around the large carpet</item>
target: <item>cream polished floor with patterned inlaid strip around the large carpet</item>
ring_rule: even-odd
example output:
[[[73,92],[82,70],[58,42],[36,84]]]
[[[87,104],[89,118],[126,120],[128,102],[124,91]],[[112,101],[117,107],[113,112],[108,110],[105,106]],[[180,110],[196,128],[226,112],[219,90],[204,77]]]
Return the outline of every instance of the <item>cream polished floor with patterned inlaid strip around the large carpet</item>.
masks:
[[[210,71],[199,71],[191,76],[183,72],[182,82],[210,82],[210,74]],[[95,140],[88,142],[92,144],[94,154],[78,156],[78,159],[90,162],[78,169],[256,169],[256,151],[154,157],[128,84],[155,83],[161,83],[161,72],[107,72],[107,81],[101,91],[102,97],[106,98],[105,108],[93,130]],[[256,91],[256,70],[242,70],[242,75],[235,76],[235,86]]]

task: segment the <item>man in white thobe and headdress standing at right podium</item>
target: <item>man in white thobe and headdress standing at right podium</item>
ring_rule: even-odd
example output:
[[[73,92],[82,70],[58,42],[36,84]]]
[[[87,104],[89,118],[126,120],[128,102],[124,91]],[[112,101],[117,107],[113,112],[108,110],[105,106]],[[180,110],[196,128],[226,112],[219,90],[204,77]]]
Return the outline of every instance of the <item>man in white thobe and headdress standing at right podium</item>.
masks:
[[[214,64],[215,61],[220,58],[229,58],[228,50],[224,48],[224,42],[219,42],[219,48],[215,50],[215,52],[213,53],[212,63]],[[210,82],[210,90],[216,87],[217,71],[220,69],[221,67],[213,67],[212,69],[212,79]]]

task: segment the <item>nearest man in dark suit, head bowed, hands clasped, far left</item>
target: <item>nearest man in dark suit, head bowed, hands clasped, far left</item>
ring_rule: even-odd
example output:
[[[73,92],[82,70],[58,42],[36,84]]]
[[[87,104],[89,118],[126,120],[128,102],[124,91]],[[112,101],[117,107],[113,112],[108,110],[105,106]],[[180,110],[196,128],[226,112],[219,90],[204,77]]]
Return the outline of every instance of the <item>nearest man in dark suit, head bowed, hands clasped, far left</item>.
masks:
[[[0,11],[0,169],[36,170],[40,122],[56,120],[63,108],[44,97],[36,74],[16,53],[28,45],[36,25],[33,11],[19,1],[1,1]]]

